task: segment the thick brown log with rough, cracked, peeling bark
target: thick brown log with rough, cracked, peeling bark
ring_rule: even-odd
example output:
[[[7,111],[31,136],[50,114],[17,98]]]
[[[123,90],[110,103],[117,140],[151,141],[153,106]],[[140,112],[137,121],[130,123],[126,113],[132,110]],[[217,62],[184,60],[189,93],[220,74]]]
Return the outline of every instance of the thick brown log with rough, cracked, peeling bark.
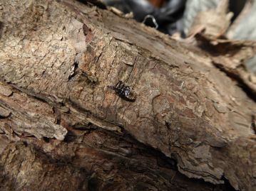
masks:
[[[76,1],[0,22],[2,190],[255,189],[255,100],[216,57]]]

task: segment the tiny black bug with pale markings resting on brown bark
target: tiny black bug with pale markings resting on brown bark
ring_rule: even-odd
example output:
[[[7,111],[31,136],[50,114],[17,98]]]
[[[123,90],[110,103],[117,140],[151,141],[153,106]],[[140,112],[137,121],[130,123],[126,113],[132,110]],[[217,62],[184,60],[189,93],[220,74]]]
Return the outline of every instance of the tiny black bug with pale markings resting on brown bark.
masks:
[[[128,102],[135,102],[136,96],[131,91],[130,87],[125,85],[122,81],[119,81],[116,86],[108,86],[111,89],[115,90],[116,94],[118,94],[119,97],[125,99]]]

